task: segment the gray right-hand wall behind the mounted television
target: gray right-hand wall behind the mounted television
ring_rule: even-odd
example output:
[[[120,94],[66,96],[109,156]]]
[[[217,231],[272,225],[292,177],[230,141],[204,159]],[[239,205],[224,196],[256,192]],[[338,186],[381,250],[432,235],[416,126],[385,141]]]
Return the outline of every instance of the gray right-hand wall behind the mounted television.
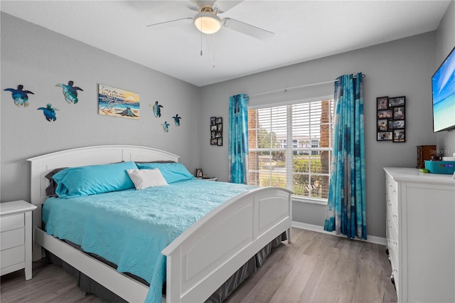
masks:
[[[455,1],[451,1],[444,18],[439,24],[436,35],[436,66],[449,55],[455,46]],[[444,151],[444,156],[455,153],[455,131],[438,132],[438,149]]]

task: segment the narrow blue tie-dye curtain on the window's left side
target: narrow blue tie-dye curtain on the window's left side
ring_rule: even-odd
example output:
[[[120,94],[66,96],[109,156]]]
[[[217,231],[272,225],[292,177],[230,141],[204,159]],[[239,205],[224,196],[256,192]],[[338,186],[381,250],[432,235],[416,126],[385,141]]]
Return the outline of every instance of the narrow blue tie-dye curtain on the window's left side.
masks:
[[[248,96],[229,97],[229,181],[248,184]]]

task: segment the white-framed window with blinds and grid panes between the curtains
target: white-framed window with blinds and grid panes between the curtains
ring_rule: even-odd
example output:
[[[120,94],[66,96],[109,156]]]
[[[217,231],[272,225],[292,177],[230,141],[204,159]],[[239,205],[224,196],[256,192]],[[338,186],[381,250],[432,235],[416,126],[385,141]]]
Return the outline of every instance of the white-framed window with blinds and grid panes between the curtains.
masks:
[[[250,184],[327,201],[333,100],[248,111]]]

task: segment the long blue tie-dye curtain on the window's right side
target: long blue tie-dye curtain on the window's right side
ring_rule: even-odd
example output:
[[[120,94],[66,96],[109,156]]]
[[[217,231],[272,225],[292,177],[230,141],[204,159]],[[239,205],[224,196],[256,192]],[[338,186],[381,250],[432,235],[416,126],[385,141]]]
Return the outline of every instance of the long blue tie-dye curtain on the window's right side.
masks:
[[[335,83],[333,154],[324,230],[367,238],[363,75],[342,75]]]

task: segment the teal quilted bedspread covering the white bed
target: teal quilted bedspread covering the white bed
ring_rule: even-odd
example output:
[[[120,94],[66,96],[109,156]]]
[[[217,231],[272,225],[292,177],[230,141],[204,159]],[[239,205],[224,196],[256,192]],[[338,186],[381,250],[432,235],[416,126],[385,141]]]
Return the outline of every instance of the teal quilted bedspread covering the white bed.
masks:
[[[146,302],[161,302],[166,257],[161,250],[221,203],[254,188],[192,179],[169,186],[48,198],[43,222],[48,235],[70,240],[150,284]]]

